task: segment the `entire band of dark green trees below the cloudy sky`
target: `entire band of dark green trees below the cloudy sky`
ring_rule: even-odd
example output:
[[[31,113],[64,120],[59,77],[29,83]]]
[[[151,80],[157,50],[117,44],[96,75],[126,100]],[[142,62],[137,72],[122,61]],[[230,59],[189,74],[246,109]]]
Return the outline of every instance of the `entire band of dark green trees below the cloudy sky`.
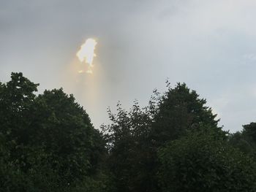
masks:
[[[74,96],[38,85],[0,82],[0,191],[256,191],[256,123],[222,131],[184,83],[118,103],[101,131]]]

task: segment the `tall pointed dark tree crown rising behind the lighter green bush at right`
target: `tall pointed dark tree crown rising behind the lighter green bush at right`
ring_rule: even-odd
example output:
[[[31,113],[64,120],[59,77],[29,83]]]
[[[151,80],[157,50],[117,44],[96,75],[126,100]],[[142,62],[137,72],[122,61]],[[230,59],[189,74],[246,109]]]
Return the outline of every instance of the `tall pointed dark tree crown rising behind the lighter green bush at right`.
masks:
[[[157,146],[178,139],[193,128],[211,126],[220,134],[225,134],[217,126],[219,120],[206,107],[206,99],[200,99],[196,91],[191,91],[185,83],[178,83],[159,98],[158,110],[152,125],[151,138]]]

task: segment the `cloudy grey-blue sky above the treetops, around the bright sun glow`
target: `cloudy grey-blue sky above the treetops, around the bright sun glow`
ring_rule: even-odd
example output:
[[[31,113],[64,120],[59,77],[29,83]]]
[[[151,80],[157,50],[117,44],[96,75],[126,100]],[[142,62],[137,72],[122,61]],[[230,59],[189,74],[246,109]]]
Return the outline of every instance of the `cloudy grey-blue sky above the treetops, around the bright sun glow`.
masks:
[[[255,0],[0,0],[0,81],[23,72],[64,88],[95,128],[107,107],[146,106],[154,88],[186,82],[230,132],[256,120]],[[78,74],[86,39],[93,74]]]

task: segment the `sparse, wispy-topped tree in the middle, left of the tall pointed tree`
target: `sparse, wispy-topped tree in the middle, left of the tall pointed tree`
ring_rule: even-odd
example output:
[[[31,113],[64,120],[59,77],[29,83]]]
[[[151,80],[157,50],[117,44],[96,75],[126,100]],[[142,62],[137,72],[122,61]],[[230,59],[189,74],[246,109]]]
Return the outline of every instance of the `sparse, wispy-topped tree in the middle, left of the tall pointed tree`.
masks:
[[[152,182],[149,134],[151,112],[135,101],[127,112],[117,105],[117,114],[110,110],[112,123],[102,126],[108,141],[108,167],[117,191],[154,191]]]

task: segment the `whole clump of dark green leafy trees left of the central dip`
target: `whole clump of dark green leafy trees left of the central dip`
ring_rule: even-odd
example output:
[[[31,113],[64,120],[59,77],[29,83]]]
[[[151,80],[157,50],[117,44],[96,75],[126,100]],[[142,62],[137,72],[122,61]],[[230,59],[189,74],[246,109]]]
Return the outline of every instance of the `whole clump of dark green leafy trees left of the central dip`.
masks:
[[[82,181],[89,185],[86,181],[97,177],[105,155],[102,135],[72,95],[54,89],[36,96],[37,85],[22,73],[0,83],[5,141],[0,147],[7,154],[0,160],[9,173],[0,172],[0,177],[19,176],[3,190],[18,185],[16,191],[71,191]]]

